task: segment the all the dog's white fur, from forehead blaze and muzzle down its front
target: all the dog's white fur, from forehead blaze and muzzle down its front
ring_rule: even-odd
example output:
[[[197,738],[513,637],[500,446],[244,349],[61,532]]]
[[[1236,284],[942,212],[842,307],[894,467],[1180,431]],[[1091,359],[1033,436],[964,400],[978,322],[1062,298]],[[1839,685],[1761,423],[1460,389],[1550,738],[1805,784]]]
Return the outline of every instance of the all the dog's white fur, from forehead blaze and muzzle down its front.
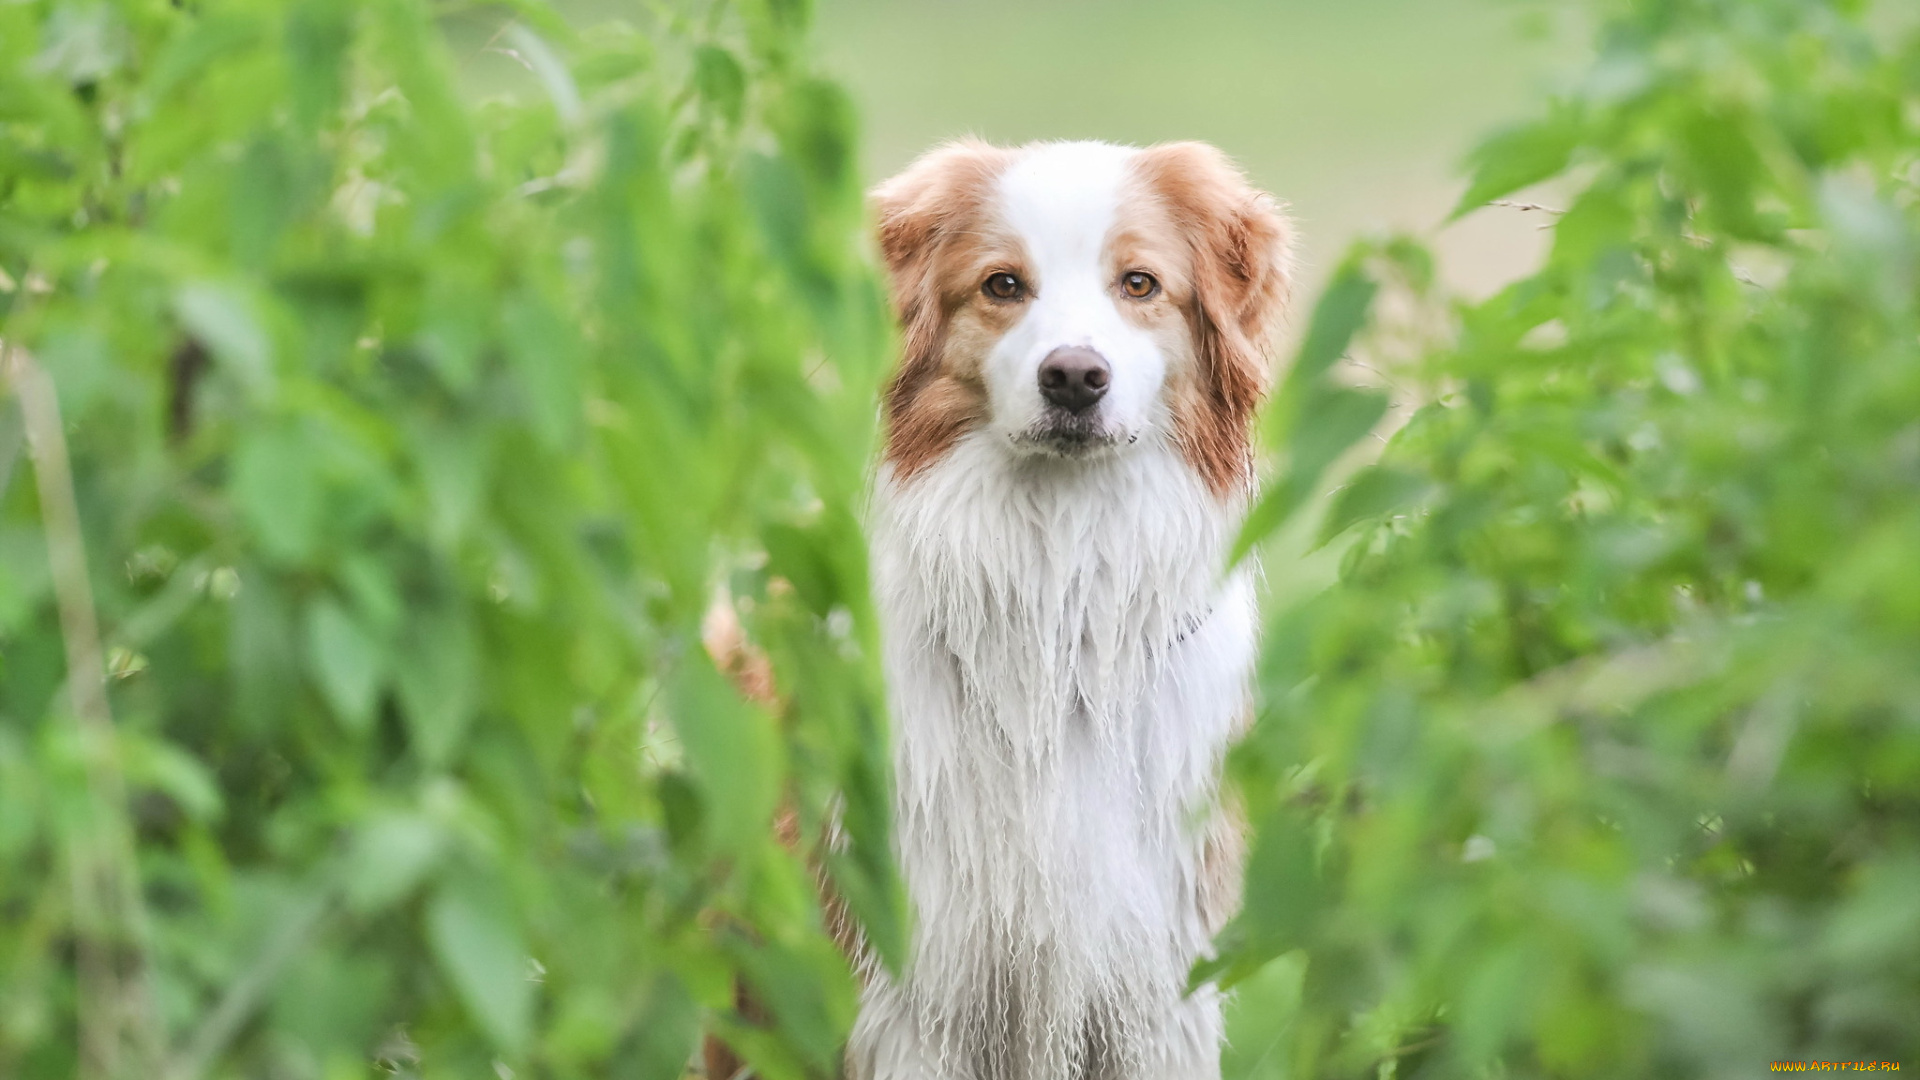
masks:
[[[1213,1080],[1219,994],[1202,826],[1248,707],[1238,503],[1165,429],[1169,359],[1104,281],[1123,150],[1029,152],[998,188],[1039,267],[989,357],[991,419],[908,479],[883,469],[874,584],[895,723],[895,840],[914,909],[904,978],[870,970],[860,1080]],[[1018,438],[1062,344],[1114,367],[1137,436],[1054,457]]]

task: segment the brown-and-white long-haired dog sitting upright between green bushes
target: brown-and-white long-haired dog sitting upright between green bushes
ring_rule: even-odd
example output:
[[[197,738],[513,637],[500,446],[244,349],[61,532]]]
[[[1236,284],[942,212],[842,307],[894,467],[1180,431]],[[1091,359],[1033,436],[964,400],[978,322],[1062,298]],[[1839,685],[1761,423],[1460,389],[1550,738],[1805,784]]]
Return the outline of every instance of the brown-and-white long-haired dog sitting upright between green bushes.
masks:
[[[904,329],[870,507],[914,913],[854,1080],[1219,1076],[1254,488],[1290,227],[1217,150],[941,146],[874,190]]]

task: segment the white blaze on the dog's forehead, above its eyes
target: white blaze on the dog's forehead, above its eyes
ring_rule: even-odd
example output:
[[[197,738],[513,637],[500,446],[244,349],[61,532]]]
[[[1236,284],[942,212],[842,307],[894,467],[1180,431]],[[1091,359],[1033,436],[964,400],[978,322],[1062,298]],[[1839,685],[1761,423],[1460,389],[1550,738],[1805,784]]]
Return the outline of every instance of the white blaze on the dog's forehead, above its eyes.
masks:
[[[1044,142],[1000,175],[1000,213],[1027,242],[1041,279],[1035,286],[1044,290],[1048,275],[1100,265],[1135,154],[1110,142]]]

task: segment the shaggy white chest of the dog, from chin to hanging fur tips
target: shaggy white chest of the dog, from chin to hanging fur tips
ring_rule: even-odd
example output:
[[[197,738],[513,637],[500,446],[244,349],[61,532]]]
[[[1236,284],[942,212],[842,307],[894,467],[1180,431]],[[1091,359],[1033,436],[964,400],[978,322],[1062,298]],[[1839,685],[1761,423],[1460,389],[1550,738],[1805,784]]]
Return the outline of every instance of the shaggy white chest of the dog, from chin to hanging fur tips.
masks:
[[[1175,454],[991,450],[877,505],[902,865],[924,926],[1121,963],[1181,919],[1244,701],[1231,515]]]

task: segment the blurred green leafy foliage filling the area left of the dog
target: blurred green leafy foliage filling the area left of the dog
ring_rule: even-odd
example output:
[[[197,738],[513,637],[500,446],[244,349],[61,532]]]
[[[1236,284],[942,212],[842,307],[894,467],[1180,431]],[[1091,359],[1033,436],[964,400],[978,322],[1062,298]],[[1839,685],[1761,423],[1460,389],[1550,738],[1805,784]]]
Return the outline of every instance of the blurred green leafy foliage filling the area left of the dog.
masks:
[[[637,12],[0,6],[0,1076],[835,1067],[768,822],[893,953],[851,110],[803,2]]]

